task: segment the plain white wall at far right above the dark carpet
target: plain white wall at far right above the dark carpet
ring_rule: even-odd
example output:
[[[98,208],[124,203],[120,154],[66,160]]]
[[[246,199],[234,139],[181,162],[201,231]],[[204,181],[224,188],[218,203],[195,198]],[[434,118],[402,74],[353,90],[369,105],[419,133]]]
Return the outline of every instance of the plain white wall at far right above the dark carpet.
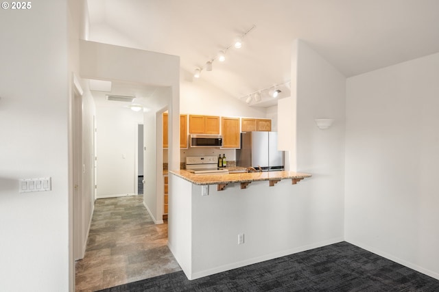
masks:
[[[439,279],[439,53],[347,81],[346,241]]]

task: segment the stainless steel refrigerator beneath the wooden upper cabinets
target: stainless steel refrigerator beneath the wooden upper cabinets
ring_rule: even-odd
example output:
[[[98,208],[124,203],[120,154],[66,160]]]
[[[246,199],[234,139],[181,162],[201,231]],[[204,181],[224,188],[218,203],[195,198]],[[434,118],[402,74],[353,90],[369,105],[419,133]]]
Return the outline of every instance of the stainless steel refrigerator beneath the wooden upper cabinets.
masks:
[[[241,149],[237,149],[236,159],[237,166],[244,168],[283,170],[284,152],[277,150],[277,132],[241,133]]]

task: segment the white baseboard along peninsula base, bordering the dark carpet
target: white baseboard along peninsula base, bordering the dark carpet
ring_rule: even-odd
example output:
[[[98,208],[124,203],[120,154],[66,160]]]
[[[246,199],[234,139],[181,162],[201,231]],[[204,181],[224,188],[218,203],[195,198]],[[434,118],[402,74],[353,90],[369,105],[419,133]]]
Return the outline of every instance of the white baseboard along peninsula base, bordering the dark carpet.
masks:
[[[320,241],[318,243],[312,243],[312,244],[309,244],[309,245],[302,245],[302,246],[300,246],[298,248],[292,248],[292,249],[289,249],[289,250],[283,250],[281,252],[274,252],[272,254],[265,254],[263,256],[257,256],[255,258],[249,258],[249,259],[247,259],[245,261],[239,261],[239,262],[236,262],[236,263],[230,263],[228,265],[222,265],[222,266],[219,266],[219,267],[214,267],[212,269],[206,269],[204,271],[197,271],[197,272],[192,273],[190,275],[188,275],[188,273],[186,273],[186,272],[185,272],[185,274],[186,274],[186,276],[187,276],[187,278],[189,280],[195,280],[195,279],[198,279],[198,278],[202,278],[202,277],[206,277],[206,276],[211,276],[213,274],[221,273],[223,271],[228,271],[230,269],[236,269],[238,267],[244,267],[246,265],[253,265],[254,263],[261,263],[263,261],[269,261],[269,260],[272,260],[274,258],[279,258],[281,256],[287,256],[289,254],[296,254],[298,252],[305,252],[306,250],[312,250],[314,248],[321,248],[322,246],[330,245],[330,244],[338,243],[338,242],[342,242],[342,241],[344,241],[343,237],[337,237],[337,238],[334,238],[334,239],[329,239],[327,241]],[[169,243],[168,243],[168,246],[169,246]]]

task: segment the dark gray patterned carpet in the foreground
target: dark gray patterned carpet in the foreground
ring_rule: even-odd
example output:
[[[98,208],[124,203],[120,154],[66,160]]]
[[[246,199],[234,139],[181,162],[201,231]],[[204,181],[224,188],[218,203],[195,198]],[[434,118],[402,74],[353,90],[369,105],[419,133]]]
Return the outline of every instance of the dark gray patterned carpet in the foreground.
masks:
[[[439,280],[340,242],[197,280],[177,271],[102,291],[439,291]]]

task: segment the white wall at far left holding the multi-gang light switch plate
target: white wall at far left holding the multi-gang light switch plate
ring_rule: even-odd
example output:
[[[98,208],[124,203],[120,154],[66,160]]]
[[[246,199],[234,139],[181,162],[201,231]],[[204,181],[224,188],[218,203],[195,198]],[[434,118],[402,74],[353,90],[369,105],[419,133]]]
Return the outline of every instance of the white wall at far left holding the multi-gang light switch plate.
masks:
[[[67,1],[32,4],[0,12],[0,291],[68,291]],[[19,194],[45,176],[51,191]]]

